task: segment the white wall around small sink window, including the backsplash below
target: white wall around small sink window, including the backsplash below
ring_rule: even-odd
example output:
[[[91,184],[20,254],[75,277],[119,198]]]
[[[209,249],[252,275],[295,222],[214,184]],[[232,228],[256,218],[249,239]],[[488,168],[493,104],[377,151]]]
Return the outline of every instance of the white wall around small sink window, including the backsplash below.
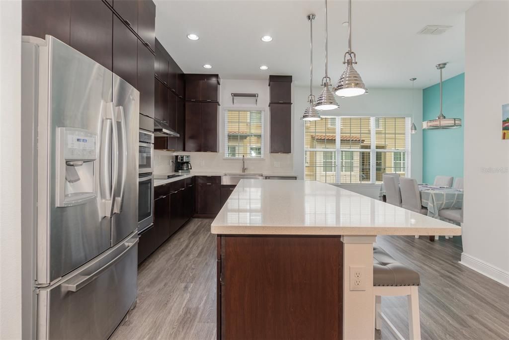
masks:
[[[232,93],[258,93],[258,105],[254,98],[235,98],[232,104]],[[261,109],[264,111],[264,158],[247,159],[247,172],[261,173],[293,173],[292,154],[269,153],[269,81],[268,80],[232,80],[221,79],[219,103],[219,152],[167,152],[156,151],[155,173],[169,172],[169,160],[174,154],[190,155],[193,171],[241,172],[242,161],[224,159],[224,110],[225,109]],[[279,166],[274,166],[279,162]]]

